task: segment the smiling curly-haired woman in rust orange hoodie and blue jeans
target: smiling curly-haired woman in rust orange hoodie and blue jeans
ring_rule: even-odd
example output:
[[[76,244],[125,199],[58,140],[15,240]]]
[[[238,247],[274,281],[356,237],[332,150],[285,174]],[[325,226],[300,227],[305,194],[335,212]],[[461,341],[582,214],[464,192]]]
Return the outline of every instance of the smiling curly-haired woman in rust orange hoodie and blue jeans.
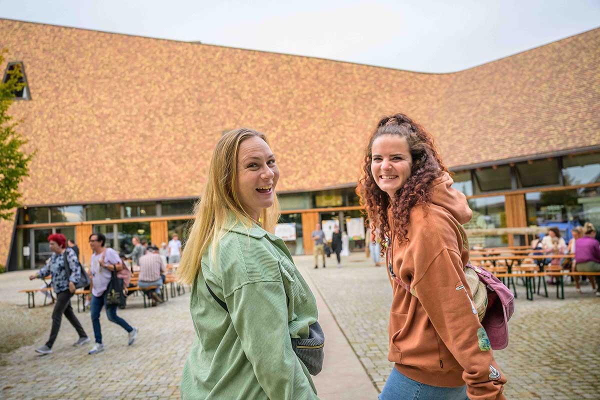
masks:
[[[359,193],[377,221],[394,297],[380,400],[505,399],[506,378],[465,288],[466,198],[421,125],[383,118],[365,151]]]

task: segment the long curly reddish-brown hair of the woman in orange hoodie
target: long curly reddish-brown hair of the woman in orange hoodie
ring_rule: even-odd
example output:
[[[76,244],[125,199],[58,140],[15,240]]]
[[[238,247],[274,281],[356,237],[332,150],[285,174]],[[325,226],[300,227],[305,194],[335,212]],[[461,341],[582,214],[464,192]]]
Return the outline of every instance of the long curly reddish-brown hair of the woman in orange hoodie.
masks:
[[[371,173],[373,142],[384,135],[404,137],[412,156],[410,176],[404,182],[403,187],[398,189],[394,200],[391,200],[389,195],[377,186],[373,173]],[[367,210],[371,227],[379,228],[379,237],[382,242],[386,240],[386,237],[391,237],[388,221],[390,206],[394,218],[394,236],[400,243],[409,240],[406,233],[410,210],[418,204],[431,203],[433,181],[444,172],[448,172],[448,169],[437,152],[433,137],[421,125],[404,114],[394,114],[379,121],[365,149],[361,178],[358,181],[356,193],[361,198],[361,205]],[[383,254],[382,248],[381,255],[383,256]]]

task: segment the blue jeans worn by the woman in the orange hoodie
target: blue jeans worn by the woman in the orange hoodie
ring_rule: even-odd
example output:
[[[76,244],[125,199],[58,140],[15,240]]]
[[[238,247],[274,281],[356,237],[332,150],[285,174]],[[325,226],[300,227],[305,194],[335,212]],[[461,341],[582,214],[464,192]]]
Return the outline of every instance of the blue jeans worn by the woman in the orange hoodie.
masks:
[[[379,400],[469,400],[467,387],[438,387],[413,381],[392,369]]]

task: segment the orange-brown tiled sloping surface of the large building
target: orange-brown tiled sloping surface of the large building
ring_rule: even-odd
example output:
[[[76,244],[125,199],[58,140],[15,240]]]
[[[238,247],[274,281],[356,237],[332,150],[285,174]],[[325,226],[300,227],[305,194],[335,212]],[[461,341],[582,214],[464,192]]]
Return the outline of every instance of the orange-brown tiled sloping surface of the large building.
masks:
[[[10,109],[38,150],[31,205],[198,196],[238,127],[268,135],[284,191],[355,182],[377,120],[398,111],[449,167],[600,143],[600,29],[451,74],[6,19],[0,37],[31,91]]]

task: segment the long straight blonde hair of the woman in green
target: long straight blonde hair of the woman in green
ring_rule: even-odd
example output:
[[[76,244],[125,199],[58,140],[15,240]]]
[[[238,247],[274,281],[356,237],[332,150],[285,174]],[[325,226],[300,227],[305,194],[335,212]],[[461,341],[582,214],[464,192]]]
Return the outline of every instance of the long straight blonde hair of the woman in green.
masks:
[[[229,131],[217,142],[212,152],[204,193],[194,207],[196,220],[189,230],[177,270],[179,281],[187,284],[194,282],[200,270],[202,254],[211,243],[212,254],[216,254],[218,242],[229,228],[227,223],[230,215],[248,228],[253,224],[253,219],[239,200],[236,179],[239,145],[254,136],[269,144],[265,134],[247,128]],[[262,210],[259,222],[265,230],[273,232],[279,215],[279,202],[274,194],[273,205]]]

